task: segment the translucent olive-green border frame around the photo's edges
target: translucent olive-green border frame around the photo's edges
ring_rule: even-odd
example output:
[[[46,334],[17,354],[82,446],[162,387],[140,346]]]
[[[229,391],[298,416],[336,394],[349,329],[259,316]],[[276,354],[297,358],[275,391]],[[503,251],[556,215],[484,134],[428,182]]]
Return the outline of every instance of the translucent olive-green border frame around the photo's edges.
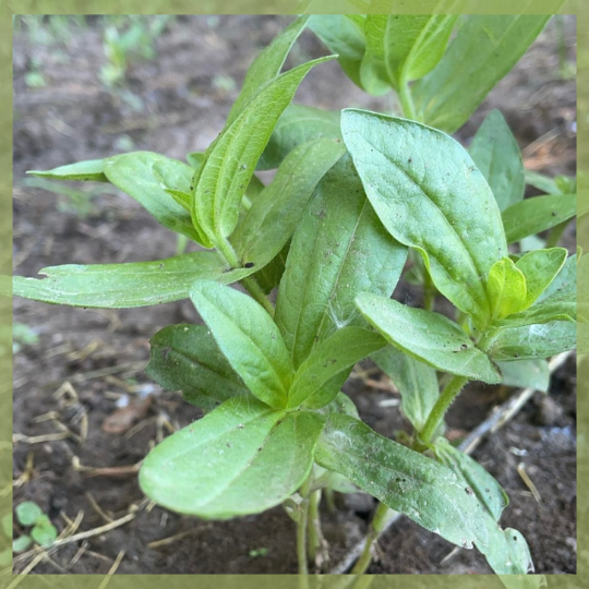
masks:
[[[382,12],[386,12],[382,0]],[[12,274],[12,15],[13,14],[296,14],[358,13],[368,0],[0,0],[0,275]],[[401,0],[398,12],[428,14],[438,5],[437,0]],[[454,10],[461,14],[576,14],[578,40],[578,202],[589,201],[589,2],[586,0],[456,0]],[[378,11],[381,12],[381,11]],[[589,215],[587,216],[589,217]],[[582,219],[585,221],[585,219]],[[589,252],[589,224],[579,224],[578,244]],[[1,279],[0,279],[1,280]],[[585,287],[587,288],[587,287]],[[11,289],[0,281],[0,514],[12,509],[12,301]],[[578,361],[578,474],[582,490],[589,488],[589,362]],[[491,575],[430,575],[430,576],[350,576],[310,577],[310,587],[348,588],[402,587],[508,589],[516,587],[551,588],[589,587],[589,493],[577,496],[578,551],[577,574],[562,576],[502,577]],[[0,536],[0,551],[7,539]],[[297,576],[284,575],[29,575],[0,577],[0,589],[62,588],[129,588],[155,589],[165,581],[169,589],[199,588],[256,588],[271,589],[279,585],[299,587]],[[502,582],[503,581],[503,582]]]

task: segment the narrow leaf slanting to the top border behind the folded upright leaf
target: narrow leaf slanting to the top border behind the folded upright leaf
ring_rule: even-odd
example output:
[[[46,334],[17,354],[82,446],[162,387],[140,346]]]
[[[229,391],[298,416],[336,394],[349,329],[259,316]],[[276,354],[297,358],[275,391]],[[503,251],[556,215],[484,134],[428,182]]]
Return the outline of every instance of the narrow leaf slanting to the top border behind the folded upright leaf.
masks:
[[[300,16],[265,47],[248,69],[241,92],[231,107],[226,125],[231,124],[252,101],[262,86],[275,80],[299,35],[304,31],[309,16]]]

